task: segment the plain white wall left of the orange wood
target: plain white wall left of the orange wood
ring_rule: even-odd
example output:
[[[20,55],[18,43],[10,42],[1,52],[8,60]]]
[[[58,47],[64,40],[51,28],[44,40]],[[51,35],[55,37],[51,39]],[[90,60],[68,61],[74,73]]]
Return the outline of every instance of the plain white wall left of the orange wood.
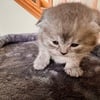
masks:
[[[0,34],[31,33],[36,21],[14,0],[0,0]]]

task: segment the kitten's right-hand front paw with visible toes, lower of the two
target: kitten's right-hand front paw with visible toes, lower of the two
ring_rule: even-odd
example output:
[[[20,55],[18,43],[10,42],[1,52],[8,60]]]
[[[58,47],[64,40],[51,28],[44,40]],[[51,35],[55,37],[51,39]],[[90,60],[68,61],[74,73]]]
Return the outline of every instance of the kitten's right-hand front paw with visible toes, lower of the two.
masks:
[[[64,68],[65,72],[72,77],[79,77],[83,75],[83,70],[80,67]]]

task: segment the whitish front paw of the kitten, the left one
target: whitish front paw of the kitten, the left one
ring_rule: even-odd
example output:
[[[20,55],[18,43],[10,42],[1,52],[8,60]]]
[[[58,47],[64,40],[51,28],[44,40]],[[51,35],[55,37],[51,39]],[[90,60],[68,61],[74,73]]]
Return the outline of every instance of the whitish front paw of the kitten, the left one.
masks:
[[[45,59],[43,59],[43,60],[36,59],[33,62],[33,67],[36,70],[43,70],[48,64],[49,64],[49,61],[47,61]]]

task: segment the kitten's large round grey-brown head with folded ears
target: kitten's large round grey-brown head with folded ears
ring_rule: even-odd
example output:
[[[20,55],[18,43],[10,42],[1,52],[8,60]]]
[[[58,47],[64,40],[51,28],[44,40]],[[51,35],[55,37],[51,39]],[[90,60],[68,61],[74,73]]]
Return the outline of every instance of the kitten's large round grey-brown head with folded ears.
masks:
[[[40,27],[39,39],[53,55],[74,56],[89,53],[97,44],[99,32],[98,25],[90,17],[92,12],[85,8],[87,11],[83,13],[88,16],[83,16],[81,11],[71,11],[71,8],[67,8],[68,11],[65,12],[64,6],[53,7],[44,12],[37,24]]]

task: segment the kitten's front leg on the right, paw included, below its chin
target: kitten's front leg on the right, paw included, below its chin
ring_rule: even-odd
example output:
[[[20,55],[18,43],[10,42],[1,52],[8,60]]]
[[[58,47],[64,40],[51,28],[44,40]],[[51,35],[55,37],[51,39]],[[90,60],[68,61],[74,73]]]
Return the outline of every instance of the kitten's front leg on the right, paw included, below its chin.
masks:
[[[72,77],[79,77],[83,75],[83,70],[79,67],[80,60],[71,60],[65,65],[65,72]]]

